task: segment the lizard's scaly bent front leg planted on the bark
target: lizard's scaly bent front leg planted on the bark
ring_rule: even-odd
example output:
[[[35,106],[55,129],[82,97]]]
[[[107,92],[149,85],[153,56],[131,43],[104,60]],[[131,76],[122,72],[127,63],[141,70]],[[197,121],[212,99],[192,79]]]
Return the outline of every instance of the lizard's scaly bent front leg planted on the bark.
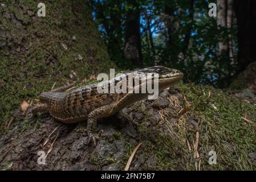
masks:
[[[95,140],[95,133],[96,133],[96,126],[97,126],[97,119],[99,118],[105,118],[109,115],[112,115],[109,113],[109,111],[112,109],[112,105],[107,106],[101,106],[94,111],[92,111],[88,115],[88,121],[87,121],[87,133],[88,133],[88,140],[87,144],[90,142],[93,142],[96,146],[96,140]]]

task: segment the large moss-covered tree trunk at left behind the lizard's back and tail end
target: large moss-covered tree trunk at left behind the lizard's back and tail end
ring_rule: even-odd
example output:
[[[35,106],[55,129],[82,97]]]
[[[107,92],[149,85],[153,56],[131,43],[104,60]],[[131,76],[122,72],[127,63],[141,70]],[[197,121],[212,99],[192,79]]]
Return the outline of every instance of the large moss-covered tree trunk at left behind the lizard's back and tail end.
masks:
[[[55,81],[71,81],[72,73],[81,81],[114,67],[85,1],[44,1],[45,17],[37,15],[38,3],[1,1],[0,124]]]

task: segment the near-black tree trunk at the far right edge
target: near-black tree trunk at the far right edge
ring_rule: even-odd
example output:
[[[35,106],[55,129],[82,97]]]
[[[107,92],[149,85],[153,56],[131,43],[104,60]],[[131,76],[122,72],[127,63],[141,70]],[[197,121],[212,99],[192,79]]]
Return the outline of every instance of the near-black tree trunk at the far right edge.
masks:
[[[256,60],[256,1],[235,0],[234,8],[238,28],[238,74]]]

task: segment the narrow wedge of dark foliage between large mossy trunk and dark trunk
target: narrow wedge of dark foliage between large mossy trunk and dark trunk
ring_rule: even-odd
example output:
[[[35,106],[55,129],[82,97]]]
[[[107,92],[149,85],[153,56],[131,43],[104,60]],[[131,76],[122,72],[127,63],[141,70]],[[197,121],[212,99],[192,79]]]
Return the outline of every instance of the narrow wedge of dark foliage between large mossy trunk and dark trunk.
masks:
[[[125,7],[123,0],[91,1],[95,22],[112,60],[123,60]],[[120,64],[116,61],[116,64]]]

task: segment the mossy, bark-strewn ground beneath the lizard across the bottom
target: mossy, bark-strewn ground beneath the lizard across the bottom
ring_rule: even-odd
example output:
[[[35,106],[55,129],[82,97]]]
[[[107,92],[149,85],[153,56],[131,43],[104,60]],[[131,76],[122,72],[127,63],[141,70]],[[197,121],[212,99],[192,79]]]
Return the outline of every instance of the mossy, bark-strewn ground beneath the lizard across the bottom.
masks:
[[[141,142],[131,170],[255,170],[256,106],[253,98],[237,97],[180,82],[157,100],[101,119],[96,146],[85,144],[86,122],[66,125],[47,113],[31,118],[30,109],[17,109],[0,138],[0,168],[123,170]],[[46,165],[37,163],[38,151],[47,154]],[[217,154],[215,165],[210,151]]]

